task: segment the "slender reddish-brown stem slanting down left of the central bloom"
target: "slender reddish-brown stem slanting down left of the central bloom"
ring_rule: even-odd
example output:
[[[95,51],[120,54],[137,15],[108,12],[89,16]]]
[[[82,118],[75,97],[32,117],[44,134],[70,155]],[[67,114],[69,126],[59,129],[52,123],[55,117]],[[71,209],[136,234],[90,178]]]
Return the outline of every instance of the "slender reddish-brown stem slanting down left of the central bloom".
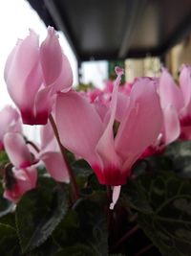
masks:
[[[62,157],[64,159],[64,161],[66,162],[66,165],[67,165],[67,169],[68,169],[68,174],[70,176],[70,180],[71,180],[71,184],[72,184],[72,190],[73,190],[73,195],[74,195],[74,201],[76,201],[78,198],[79,198],[79,194],[78,194],[78,189],[77,189],[77,185],[76,185],[76,181],[75,181],[75,178],[74,178],[74,174],[73,174],[73,171],[70,167],[70,164],[69,164],[69,161],[67,159],[67,156],[66,156],[66,149],[62,146],[61,142],[60,142],[60,138],[59,138],[59,134],[58,134],[58,130],[56,128],[56,125],[55,125],[55,122],[53,120],[53,116],[50,115],[49,116],[49,120],[50,120],[50,123],[52,125],[52,128],[53,128],[53,132],[54,132],[54,135],[55,135],[55,138],[56,138],[56,141],[58,143],[58,146],[59,146],[59,149],[61,151],[61,154],[62,154]]]

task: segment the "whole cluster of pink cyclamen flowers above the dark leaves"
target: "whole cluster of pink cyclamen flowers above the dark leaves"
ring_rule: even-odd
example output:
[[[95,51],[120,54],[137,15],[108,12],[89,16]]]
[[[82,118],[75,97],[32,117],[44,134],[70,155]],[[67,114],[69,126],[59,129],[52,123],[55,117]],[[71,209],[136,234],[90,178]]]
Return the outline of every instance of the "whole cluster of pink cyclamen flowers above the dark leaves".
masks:
[[[159,79],[138,78],[123,86],[123,71],[116,68],[116,73],[116,81],[108,81],[103,90],[82,94],[71,88],[71,66],[53,28],[40,47],[32,31],[17,42],[5,67],[8,90],[24,124],[47,125],[33,157],[19,129],[0,134],[14,166],[15,183],[6,188],[6,198],[15,201],[35,187],[39,161],[53,178],[69,181],[48,122],[51,113],[62,145],[90,164],[100,184],[113,186],[114,203],[139,157],[162,151],[176,139],[191,138],[190,67],[181,68],[179,86],[165,69]],[[15,123],[18,114],[9,118]]]

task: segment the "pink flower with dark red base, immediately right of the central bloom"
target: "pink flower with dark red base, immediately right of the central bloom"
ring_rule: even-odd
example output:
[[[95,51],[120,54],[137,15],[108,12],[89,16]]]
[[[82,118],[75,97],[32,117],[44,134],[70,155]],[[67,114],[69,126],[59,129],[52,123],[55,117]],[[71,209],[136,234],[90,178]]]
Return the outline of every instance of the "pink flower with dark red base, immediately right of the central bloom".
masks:
[[[179,113],[182,107],[180,88],[165,68],[162,69],[159,80],[156,82],[162,110],[162,127],[155,143],[143,152],[141,158],[163,152],[168,144],[180,136]]]

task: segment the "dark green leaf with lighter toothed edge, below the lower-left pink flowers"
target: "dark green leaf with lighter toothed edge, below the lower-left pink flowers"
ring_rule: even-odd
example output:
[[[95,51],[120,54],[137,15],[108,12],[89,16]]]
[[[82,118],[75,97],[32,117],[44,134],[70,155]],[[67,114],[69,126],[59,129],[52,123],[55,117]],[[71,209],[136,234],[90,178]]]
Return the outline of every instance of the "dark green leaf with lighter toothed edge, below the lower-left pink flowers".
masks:
[[[67,193],[50,178],[21,198],[16,208],[16,225],[22,252],[45,242],[68,209]]]

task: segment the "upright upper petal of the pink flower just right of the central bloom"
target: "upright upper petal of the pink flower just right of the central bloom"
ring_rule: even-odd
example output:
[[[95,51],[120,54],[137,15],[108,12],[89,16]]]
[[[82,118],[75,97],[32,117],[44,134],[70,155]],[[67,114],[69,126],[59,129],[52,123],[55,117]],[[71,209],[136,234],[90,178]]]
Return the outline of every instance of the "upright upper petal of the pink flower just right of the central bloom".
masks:
[[[162,70],[159,79],[159,97],[162,108],[171,104],[175,106],[177,111],[180,111],[180,108],[183,106],[183,98],[180,88],[166,69]]]

